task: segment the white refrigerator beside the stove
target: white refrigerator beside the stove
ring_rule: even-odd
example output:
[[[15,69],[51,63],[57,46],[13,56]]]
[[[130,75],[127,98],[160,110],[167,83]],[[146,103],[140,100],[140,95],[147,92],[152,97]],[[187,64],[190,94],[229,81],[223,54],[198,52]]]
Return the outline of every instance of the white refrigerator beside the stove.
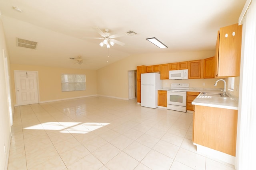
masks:
[[[141,100],[140,104],[144,107],[156,108],[158,90],[162,88],[162,81],[159,73],[141,74]]]

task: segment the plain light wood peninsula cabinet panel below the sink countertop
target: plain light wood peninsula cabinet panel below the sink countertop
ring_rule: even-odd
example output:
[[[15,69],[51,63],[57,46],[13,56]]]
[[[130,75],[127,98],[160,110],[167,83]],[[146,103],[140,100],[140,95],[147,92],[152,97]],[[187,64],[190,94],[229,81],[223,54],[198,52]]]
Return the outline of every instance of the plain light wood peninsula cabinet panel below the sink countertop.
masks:
[[[236,156],[238,110],[195,105],[193,142]]]

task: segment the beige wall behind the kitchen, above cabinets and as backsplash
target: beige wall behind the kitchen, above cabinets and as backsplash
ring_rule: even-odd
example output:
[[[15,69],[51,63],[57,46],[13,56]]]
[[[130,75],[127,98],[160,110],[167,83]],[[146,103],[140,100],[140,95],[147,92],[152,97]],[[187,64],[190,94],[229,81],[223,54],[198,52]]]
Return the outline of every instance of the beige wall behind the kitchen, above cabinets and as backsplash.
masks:
[[[136,70],[136,66],[206,59],[214,55],[215,51],[132,55],[97,70],[98,94],[128,99],[128,70]],[[162,80],[162,85],[168,87],[171,82],[188,82],[190,87],[194,88],[223,88],[222,82],[214,87],[218,79]],[[205,86],[202,85],[203,83]]]

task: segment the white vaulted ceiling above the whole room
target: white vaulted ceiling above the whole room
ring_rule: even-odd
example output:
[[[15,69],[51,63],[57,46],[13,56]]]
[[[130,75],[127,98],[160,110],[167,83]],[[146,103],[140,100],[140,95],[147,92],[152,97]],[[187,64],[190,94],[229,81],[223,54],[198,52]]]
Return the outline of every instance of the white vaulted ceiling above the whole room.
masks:
[[[0,0],[8,55],[13,64],[97,70],[130,55],[214,50],[220,27],[238,23],[246,0]],[[17,7],[23,12],[13,9]],[[100,47],[93,27],[125,43]],[[136,35],[127,35],[134,31]],[[156,37],[168,48],[146,40]],[[38,42],[18,47],[16,39]],[[110,57],[108,57],[110,56]],[[157,56],[156,56],[157,57]],[[108,61],[108,62],[107,62]]]

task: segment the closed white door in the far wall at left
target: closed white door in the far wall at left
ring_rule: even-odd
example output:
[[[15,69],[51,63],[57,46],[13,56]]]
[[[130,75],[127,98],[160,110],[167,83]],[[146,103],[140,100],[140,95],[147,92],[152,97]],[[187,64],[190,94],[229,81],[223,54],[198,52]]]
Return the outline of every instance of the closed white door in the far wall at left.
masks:
[[[16,104],[38,103],[37,72],[14,70]]]

